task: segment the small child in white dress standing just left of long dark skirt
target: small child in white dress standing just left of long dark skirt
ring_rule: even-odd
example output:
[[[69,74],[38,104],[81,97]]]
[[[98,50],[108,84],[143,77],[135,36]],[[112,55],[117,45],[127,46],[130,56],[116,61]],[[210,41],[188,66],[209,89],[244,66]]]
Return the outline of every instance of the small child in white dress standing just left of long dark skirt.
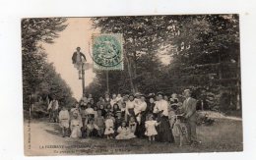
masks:
[[[153,115],[149,115],[149,120],[145,122],[146,135],[149,136],[150,141],[155,141],[155,136],[158,134],[156,127],[160,125],[153,119]]]

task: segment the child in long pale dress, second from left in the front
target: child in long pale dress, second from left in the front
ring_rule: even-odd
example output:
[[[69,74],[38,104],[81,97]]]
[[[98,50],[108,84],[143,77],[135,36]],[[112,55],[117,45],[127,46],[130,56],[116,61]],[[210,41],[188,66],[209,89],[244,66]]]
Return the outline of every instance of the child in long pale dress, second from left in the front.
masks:
[[[70,137],[81,137],[82,133],[81,133],[81,128],[83,127],[81,121],[78,119],[78,113],[75,112],[73,113],[73,120],[71,120],[70,123],[70,129],[71,129],[71,135]]]

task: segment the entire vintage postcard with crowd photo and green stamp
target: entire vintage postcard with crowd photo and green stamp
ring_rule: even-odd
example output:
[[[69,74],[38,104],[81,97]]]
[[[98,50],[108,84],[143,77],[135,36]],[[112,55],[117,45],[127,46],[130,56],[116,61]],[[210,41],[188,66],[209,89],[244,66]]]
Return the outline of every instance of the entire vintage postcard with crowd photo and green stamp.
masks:
[[[21,27],[25,155],[243,150],[239,15]]]

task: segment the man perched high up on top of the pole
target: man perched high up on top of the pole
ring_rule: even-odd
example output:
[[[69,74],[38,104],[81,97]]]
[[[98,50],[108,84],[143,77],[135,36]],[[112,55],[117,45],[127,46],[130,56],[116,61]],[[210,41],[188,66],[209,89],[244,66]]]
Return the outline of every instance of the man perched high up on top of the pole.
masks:
[[[79,70],[79,80],[82,79],[82,67],[85,62],[87,62],[86,56],[80,52],[81,48],[77,47],[76,52],[73,53],[72,56],[72,63],[74,64],[75,68]]]

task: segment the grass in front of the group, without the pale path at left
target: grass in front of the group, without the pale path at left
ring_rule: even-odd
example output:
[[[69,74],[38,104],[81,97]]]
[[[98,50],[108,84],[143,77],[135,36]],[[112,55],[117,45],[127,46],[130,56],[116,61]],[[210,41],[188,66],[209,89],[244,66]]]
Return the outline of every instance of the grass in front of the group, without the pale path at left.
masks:
[[[185,153],[185,152],[226,152],[242,151],[242,122],[232,120],[216,120],[213,126],[199,126],[197,128],[198,146],[149,142],[148,139],[134,138],[130,140],[115,140],[105,138],[74,139],[62,138],[57,124],[55,127],[58,138],[66,148],[61,154],[136,154],[136,153]]]

